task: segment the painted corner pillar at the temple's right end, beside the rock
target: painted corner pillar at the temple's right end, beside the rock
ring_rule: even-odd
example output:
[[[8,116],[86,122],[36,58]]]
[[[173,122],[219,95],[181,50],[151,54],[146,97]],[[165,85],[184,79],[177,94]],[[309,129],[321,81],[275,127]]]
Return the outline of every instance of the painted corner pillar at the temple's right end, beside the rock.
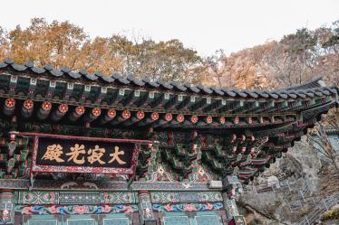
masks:
[[[228,217],[228,224],[246,224],[244,216],[237,211],[236,197],[242,192],[241,183],[235,175],[226,176],[223,181],[224,207]],[[241,222],[240,222],[241,221]]]

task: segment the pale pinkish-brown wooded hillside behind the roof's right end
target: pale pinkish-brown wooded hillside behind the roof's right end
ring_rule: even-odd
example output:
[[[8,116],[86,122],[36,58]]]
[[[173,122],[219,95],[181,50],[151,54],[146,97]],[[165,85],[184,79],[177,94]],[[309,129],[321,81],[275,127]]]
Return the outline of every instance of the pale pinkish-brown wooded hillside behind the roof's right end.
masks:
[[[305,28],[211,63],[207,82],[237,89],[276,89],[322,76],[339,84],[339,21],[315,31]],[[209,57],[213,59],[213,57]],[[217,66],[216,66],[217,65]]]

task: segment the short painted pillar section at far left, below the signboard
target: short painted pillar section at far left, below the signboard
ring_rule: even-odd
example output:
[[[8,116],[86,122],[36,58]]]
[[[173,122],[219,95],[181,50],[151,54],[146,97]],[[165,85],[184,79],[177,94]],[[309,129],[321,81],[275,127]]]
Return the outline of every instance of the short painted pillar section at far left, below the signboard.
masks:
[[[14,202],[15,195],[12,190],[0,192],[0,224],[15,223]]]

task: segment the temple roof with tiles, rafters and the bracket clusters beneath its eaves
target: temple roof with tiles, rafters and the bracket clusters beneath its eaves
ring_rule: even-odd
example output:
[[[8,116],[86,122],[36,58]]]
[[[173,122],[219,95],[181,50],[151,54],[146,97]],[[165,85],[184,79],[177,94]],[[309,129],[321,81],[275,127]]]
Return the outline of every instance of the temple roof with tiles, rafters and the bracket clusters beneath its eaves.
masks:
[[[248,182],[338,106],[338,91],[323,87],[321,78],[286,89],[217,89],[5,59],[0,62],[0,128],[106,137],[120,129],[135,131],[141,135],[134,138],[159,141],[162,160],[182,177],[201,159],[214,173],[238,173]],[[20,165],[23,174],[29,153],[24,140],[24,151],[12,158],[0,151],[0,163]],[[8,145],[5,139],[3,145]],[[140,175],[149,170],[150,155],[141,151]],[[14,171],[10,174],[16,177]]]

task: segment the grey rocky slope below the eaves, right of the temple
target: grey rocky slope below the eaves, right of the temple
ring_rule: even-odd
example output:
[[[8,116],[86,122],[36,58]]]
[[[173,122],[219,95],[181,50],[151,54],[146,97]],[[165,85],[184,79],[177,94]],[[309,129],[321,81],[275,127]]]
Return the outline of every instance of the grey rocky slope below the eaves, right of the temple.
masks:
[[[320,173],[330,164],[322,161],[304,143],[305,137],[258,177],[254,181],[256,188],[251,185],[245,187],[248,191],[242,194],[237,203],[246,213],[247,223],[298,224],[307,213],[315,209],[316,204],[310,202],[315,202],[312,196],[321,195],[324,185],[330,182],[330,178]],[[276,178],[281,183],[280,186],[273,185]],[[266,190],[263,187],[267,185],[274,188],[261,192]],[[339,185],[337,186],[339,192]]]

